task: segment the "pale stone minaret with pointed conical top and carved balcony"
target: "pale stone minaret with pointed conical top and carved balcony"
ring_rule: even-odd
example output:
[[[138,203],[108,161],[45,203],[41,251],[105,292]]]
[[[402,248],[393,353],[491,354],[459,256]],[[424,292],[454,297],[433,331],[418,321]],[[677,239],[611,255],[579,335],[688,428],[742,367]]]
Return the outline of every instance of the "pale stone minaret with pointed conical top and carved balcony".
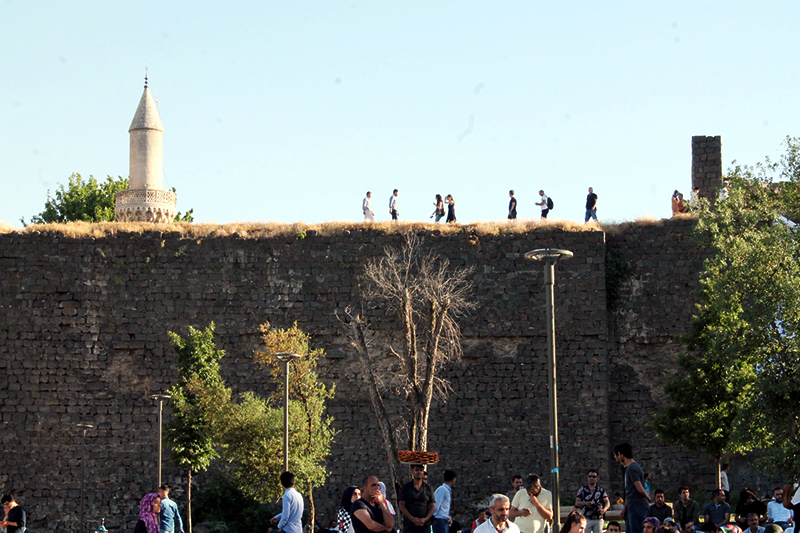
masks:
[[[164,126],[144,78],[144,93],[131,127],[128,190],[117,193],[114,219],[119,222],[169,223],[175,219],[176,196],[162,190]]]

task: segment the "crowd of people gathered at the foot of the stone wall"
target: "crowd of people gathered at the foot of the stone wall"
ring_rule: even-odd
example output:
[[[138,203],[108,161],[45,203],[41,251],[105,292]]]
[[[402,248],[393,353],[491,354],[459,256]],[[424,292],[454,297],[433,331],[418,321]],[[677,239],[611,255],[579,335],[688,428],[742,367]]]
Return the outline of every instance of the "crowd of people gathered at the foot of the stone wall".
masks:
[[[617,494],[613,498],[613,503],[622,504],[619,516],[624,520],[625,533],[794,533],[800,490],[795,491],[791,485],[775,488],[765,500],[743,489],[732,511],[726,501],[730,494],[730,465],[726,464],[720,486],[711,492],[712,500],[702,510],[691,499],[688,486],[681,486],[678,499],[669,505],[663,489],[652,490],[649,475],[633,458],[630,444],[616,446],[613,453],[625,469],[624,499]],[[549,533],[552,528],[553,494],[535,474],[512,476],[511,490],[488,496],[488,506],[479,509],[477,518],[462,527],[452,514],[456,473],[445,470],[441,485],[434,490],[428,484],[424,465],[414,464],[410,469],[411,479],[402,486],[396,508],[377,476],[368,475],[360,486],[347,487],[329,533]],[[280,533],[303,533],[304,504],[294,488],[295,476],[284,472],[280,482],[284,489],[282,508],[272,522]],[[7,528],[6,533],[24,531],[24,511],[16,507],[11,496],[5,496],[3,503],[6,516],[2,525]],[[560,531],[621,533],[620,522],[606,521],[611,506],[612,498],[600,484],[598,471],[589,469],[586,484],[575,495],[574,508]],[[183,533],[183,522],[177,505],[169,499],[167,485],[142,498],[139,516],[134,533]],[[14,529],[20,522],[23,529]]]

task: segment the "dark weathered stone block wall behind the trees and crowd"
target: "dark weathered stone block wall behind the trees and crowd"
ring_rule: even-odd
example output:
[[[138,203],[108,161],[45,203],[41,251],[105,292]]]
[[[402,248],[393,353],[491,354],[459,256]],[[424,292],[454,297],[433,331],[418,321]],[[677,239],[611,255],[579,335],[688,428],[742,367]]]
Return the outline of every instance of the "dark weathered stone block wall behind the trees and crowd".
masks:
[[[610,446],[626,439],[659,485],[708,483],[698,476],[707,459],[680,448],[664,453],[644,425],[657,408],[660,372],[674,366],[676,339],[688,330],[702,263],[688,235],[691,224],[626,224],[608,233],[558,227],[499,235],[469,228],[423,232],[442,257],[475,269],[479,307],[461,321],[464,357],[444,369],[455,393],[436,405],[430,435],[430,449],[442,459],[432,479],[438,484],[444,468],[459,472],[457,513],[505,492],[511,473],[547,479],[542,266],[523,254],[549,246],[575,254],[556,270],[564,490],[576,490],[590,466],[619,490]],[[167,331],[186,333],[189,325],[214,321],[218,346],[227,353],[225,379],[237,391],[267,393],[250,360],[258,326],[297,321],[331,352],[321,374],[337,383],[329,413],[340,433],[330,482],[317,493],[320,514],[329,519],[344,486],[367,471],[386,473],[335,311],[356,302],[364,261],[399,241],[362,226],[304,239],[158,231],[0,235],[2,489],[21,496],[32,530],[74,530],[76,424],[91,423],[87,521],[106,517],[110,529],[132,527],[138,500],[155,486],[157,418],[149,395],[175,380]],[[607,254],[613,255],[611,278]],[[378,335],[392,338],[392,321],[374,318]],[[165,467],[165,480],[185,484],[180,472]]]

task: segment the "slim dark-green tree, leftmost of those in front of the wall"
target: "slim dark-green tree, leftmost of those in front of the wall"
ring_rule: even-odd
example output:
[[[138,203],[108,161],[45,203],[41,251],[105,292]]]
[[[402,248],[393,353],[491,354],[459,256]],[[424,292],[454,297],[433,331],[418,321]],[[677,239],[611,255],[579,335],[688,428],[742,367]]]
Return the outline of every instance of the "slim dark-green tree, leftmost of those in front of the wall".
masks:
[[[214,346],[214,323],[197,330],[189,327],[189,337],[168,332],[178,356],[178,382],[169,389],[172,420],[165,439],[172,447],[172,461],[187,472],[187,523],[192,533],[192,472],[208,468],[219,456],[220,421],[230,409],[230,390],[219,374],[219,361],[225,352]]]

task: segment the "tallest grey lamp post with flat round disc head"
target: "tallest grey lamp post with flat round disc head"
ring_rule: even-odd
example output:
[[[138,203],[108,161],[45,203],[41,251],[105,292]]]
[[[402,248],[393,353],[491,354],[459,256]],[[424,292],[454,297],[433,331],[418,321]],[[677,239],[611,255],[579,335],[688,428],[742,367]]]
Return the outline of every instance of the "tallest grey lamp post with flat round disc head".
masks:
[[[550,465],[553,475],[553,533],[561,529],[561,501],[558,483],[558,382],[556,381],[556,320],[553,303],[555,264],[559,259],[569,259],[572,252],[555,248],[532,250],[525,259],[544,262],[544,284],[547,299],[547,369],[550,373]]]

